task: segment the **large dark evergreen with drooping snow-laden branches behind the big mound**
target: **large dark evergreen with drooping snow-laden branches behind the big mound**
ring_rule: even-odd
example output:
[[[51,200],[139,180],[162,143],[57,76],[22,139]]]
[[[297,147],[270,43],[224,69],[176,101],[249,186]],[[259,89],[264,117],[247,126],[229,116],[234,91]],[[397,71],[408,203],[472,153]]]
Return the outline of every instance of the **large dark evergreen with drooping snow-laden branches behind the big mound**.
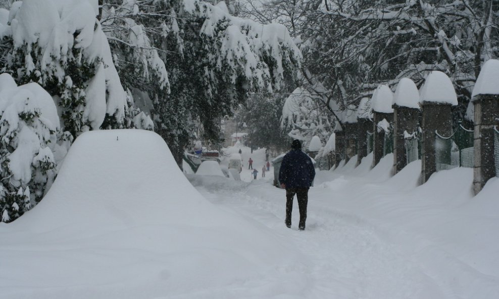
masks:
[[[212,5],[198,0],[151,0],[127,4],[125,7],[122,2],[106,1],[103,11],[108,12],[103,12],[103,18],[113,15],[115,19],[133,19],[134,23],[127,24],[138,25],[140,30],[128,25],[128,29],[123,25],[118,28],[141,36],[146,32],[151,47],[124,39],[126,34],[121,38],[115,33],[108,35],[113,36],[113,44],[133,49],[128,54],[123,50],[123,57],[133,58],[138,49],[156,49],[166,62],[170,93],[150,83],[161,82],[158,72],[148,73],[156,80],[142,76],[144,80],[129,83],[136,86],[145,81],[142,88],[155,99],[155,128],[177,161],[181,161],[183,148],[193,138],[196,126],[202,126],[205,140],[218,140],[221,117],[231,115],[238,104],[246,101],[249,91],[279,90],[285,72],[298,76],[301,53],[284,26],[232,17],[224,2]],[[102,23],[109,31],[114,30],[108,21]],[[130,59],[132,63],[136,60]],[[145,66],[151,67],[148,61],[145,59],[137,70],[143,73]],[[130,64],[122,65],[126,69]]]

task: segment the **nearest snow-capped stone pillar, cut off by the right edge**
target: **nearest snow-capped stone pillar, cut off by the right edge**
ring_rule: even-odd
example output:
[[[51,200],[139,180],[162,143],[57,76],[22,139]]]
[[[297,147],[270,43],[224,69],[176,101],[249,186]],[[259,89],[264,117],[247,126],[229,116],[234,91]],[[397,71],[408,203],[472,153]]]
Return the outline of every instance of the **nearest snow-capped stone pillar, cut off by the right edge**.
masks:
[[[497,175],[494,155],[494,127],[499,130],[499,61],[490,59],[480,71],[472,93],[475,105],[473,191],[480,192]],[[495,149],[497,151],[499,149]]]

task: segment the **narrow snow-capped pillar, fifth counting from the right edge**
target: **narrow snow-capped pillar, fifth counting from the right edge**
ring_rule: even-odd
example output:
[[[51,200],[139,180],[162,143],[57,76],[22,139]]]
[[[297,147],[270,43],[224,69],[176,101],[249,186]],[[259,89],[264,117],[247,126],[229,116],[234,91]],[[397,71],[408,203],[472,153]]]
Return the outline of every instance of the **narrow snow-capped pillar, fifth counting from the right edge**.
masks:
[[[373,113],[371,99],[363,98],[357,110],[357,165],[366,157],[367,152],[367,132],[373,130]]]

